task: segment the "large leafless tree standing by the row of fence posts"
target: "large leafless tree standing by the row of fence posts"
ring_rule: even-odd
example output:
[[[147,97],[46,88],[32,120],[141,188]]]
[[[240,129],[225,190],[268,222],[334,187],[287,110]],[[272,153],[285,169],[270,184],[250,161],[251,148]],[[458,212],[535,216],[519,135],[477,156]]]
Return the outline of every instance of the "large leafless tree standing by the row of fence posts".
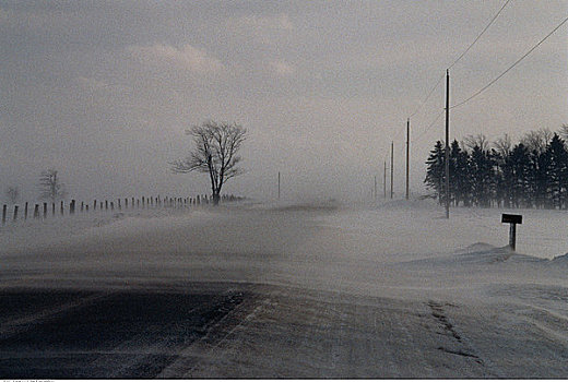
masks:
[[[247,138],[247,130],[236,123],[208,121],[192,127],[186,133],[193,136],[196,148],[187,158],[171,162],[171,171],[209,174],[213,204],[218,204],[223,184],[244,172],[237,167],[241,160],[237,153]]]

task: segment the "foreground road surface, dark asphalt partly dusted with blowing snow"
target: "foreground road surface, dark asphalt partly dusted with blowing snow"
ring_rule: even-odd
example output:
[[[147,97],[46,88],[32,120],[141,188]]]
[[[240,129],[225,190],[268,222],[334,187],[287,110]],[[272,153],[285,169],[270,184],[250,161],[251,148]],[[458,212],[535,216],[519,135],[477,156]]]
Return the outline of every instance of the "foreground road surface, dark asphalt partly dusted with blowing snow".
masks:
[[[3,290],[0,377],[566,377],[566,347],[526,325],[511,348],[495,311],[259,285],[153,289]]]

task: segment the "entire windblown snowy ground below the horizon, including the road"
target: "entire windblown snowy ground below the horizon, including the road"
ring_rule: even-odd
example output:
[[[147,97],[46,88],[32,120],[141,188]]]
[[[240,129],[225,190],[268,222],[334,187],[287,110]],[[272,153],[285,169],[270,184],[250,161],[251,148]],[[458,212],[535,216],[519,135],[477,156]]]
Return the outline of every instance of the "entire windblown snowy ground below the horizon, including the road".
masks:
[[[10,224],[0,377],[567,378],[566,222],[395,201]],[[110,334],[71,341],[84,311]]]

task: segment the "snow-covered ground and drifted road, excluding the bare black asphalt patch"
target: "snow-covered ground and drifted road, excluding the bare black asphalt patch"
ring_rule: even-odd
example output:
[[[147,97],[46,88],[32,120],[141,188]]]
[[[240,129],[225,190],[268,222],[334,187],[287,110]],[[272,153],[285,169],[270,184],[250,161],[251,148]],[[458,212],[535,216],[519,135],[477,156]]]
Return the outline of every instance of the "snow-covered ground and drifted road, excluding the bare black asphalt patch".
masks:
[[[523,215],[517,253],[504,212]],[[2,228],[0,287],[256,286],[229,337],[180,350],[206,359],[162,377],[566,377],[566,214],[447,220],[431,201],[78,214]]]

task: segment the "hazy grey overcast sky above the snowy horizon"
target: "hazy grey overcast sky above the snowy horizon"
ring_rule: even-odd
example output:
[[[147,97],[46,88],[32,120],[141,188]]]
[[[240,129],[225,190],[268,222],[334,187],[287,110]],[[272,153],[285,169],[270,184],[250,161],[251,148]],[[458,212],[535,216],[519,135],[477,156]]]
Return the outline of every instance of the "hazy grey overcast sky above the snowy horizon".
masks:
[[[499,1],[0,1],[0,186],[70,196],[208,193],[167,163],[204,120],[249,131],[247,174],[226,192],[369,198],[394,141],[404,193],[406,118],[504,4]],[[501,73],[568,16],[568,1],[512,0],[451,70],[451,104]],[[451,138],[518,140],[568,123],[568,24],[452,110]],[[411,120],[411,188],[443,136],[441,84]]]

